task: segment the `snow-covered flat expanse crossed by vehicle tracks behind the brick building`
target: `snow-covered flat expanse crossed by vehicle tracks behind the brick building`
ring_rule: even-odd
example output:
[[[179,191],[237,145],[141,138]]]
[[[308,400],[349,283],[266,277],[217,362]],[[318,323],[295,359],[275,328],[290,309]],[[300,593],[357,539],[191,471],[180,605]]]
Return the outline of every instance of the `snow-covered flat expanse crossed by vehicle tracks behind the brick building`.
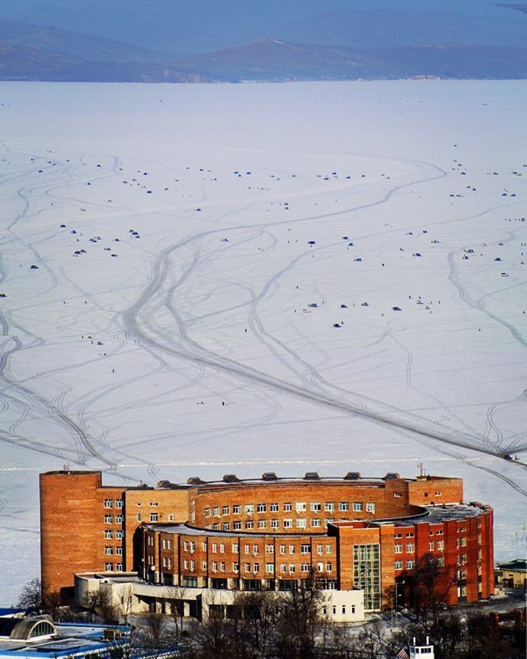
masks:
[[[526,88],[0,84],[1,601],[64,463],[424,462],[522,556]]]

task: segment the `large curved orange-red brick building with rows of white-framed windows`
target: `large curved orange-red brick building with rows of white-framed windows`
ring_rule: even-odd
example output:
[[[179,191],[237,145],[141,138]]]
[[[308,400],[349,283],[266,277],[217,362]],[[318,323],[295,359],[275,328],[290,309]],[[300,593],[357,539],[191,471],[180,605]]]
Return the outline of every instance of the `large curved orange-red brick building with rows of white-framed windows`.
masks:
[[[155,488],[103,486],[98,472],[41,474],[42,583],[74,573],[136,571],[150,583],[217,590],[288,590],[319,575],[323,588],[364,590],[366,610],[412,590],[433,556],[449,603],[493,593],[493,514],[462,503],[462,480],[190,478]]]

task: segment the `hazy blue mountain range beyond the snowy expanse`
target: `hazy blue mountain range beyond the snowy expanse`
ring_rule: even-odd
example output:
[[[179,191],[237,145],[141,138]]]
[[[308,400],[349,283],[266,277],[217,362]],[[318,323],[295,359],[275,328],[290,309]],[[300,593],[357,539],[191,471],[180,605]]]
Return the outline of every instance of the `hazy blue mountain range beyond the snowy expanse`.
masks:
[[[233,7],[238,7],[238,22],[217,30],[219,36],[209,36],[211,16],[202,17],[199,26],[196,23],[199,16],[192,12],[180,16],[178,21],[177,13],[172,10],[182,3],[158,0],[159,5],[145,20],[146,27],[150,26],[152,30],[157,20],[155,30],[161,37],[147,42],[144,32],[140,38],[134,32],[139,28],[138,19],[146,16],[145,10],[140,11],[140,5],[134,4],[136,0],[130,0],[126,7],[123,0],[106,3],[113,20],[117,20],[114,15],[116,7],[123,10],[120,16],[123,29],[113,31],[119,40],[101,34],[105,31],[101,28],[101,16],[94,16],[86,8],[86,28],[92,27],[98,34],[65,28],[65,24],[77,24],[76,20],[78,22],[81,17],[79,11],[86,0],[70,4],[55,0],[57,5],[50,5],[55,7],[54,13],[50,9],[48,18],[54,17],[55,25],[39,22],[45,4],[38,5],[33,0],[19,1],[20,9],[25,9],[23,16],[31,16],[37,22],[15,20],[16,16],[0,20],[0,80],[263,82],[414,76],[527,78],[527,47],[524,47],[527,45],[527,16],[522,15],[527,13],[527,5],[524,4],[493,5],[492,11],[499,14],[480,16],[412,11],[404,7],[404,0],[399,0],[401,9],[379,9],[379,3],[385,0],[377,0],[377,9],[350,11],[343,7],[350,7],[353,0],[348,3],[334,0],[336,9],[309,14],[307,8],[315,9],[319,0],[304,0],[304,5],[298,5],[302,11],[298,7],[292,11],[296,7],[294,0],[289,11],[276,15],[281,18],[299,16],[300,20],[273,24],[274,14],[264,15],[260,7],[263,34],[259,34],[238,0],[231,0],[232,5],[227,3],[230,7],[227,15],[232,19]],[[201,0],[202,3],[207,1]],[[426,4],[426,0],[423,1]],[[101,2],[93,0],[103,12]],[[138,16],[130,14],[132,6]],[[6,7],[4,0],[0,0],[0,11]],[[13,14],[12,5],[10,7]],[[160,7],[167,12],[163,26],[159,24]],[[218,19],[221,11],[226,10],[221,9],[223,3],[215,7],[213,16]],[[73,8],[76,10],[74,14]],[[6,13],[9,14],[7,9],[3,15]],[[172,41],[167,36],[170,30],[174,35]],[[184,38],[180,38],[182,33],[185,33]],[[132,41],[127,42],[125,36]],[[252,37],[252,40],[239,42],[246,37]],[[227,38],[231,39],[229,47],[195,52],[198,43],[204,47],[209,43],[225,42]],[[145,47],[147,43],[148,47]],[[194,54],[182,54],[190,49]]]

